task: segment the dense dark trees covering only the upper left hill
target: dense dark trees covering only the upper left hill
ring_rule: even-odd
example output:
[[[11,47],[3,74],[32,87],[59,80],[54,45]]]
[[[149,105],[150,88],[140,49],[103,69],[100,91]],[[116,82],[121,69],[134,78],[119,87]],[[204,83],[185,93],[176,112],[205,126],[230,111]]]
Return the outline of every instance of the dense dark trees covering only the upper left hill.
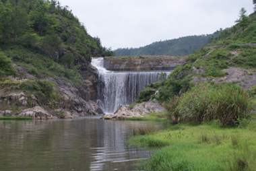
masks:
[[[1,0],[0,33],[1,49],[18,45],[52,58],[58,53],[55,61],[63,65],[73,65],[78,56],[90,61],[113,55],[99,38],[87,33],[67,6],[55,0]]]

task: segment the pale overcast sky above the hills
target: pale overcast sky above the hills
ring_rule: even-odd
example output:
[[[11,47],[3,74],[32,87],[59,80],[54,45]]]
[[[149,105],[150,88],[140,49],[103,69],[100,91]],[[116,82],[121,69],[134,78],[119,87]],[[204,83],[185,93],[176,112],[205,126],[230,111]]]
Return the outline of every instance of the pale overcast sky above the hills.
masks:
[[[135,48],[160,40],[212,34],[234,25],[253,0],[59,0],[106,48]]]

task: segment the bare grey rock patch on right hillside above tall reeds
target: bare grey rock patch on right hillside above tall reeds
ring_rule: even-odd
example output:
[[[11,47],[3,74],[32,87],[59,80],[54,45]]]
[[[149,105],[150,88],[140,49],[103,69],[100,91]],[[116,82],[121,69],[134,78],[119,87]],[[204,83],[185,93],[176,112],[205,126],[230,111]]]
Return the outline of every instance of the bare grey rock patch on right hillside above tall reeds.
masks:
[[[215,83],[226,82],[235,82],[243,88],[243,90],[248,90],[256,86],[256,72],[249,69],[241,68],[228,68],[223,71],[227,72],[228,75],[220,78],[211,78],[211,77],[194,77],[193,82],[205,82],[205,81],[214,81]]]

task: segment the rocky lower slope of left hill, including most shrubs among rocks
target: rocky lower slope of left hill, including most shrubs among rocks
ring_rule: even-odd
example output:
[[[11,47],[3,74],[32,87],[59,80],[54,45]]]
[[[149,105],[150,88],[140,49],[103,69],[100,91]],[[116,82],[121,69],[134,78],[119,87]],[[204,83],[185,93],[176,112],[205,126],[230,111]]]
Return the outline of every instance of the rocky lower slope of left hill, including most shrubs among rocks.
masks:
[[[92,67],[89,68],[90,75],[85,77],[81,87],[73,86],[68,81],[53,77],[38,79],[30,75],[26,67],[15,66],[15,68],[18,71],[17,77],[9,77],[0,83],[0,116],[51,119],[103,114],[98,104],[93,101],[96,98],[96,76]],[[31,91],[31,89],[42,89],[33,84],[36,80],[53,83],[55,98],[48,100],[41,97],[44,94],[38,95],[37,91]],[[30,88],[30,86],[34,87]]]

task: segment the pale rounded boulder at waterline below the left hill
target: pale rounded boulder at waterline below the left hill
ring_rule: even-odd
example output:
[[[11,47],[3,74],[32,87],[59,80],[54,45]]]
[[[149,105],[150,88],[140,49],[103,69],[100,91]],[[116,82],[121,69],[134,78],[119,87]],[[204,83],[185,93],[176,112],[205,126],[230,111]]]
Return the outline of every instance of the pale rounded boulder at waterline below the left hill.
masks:
[[[41,106],[35,106],[34,108],[27,108],[25,110],[22,110],[18,116],[23,117],[31,117],[34,119],[51,119],[56,118],[52,114],[50,114],[48,111],[44,110]]]

